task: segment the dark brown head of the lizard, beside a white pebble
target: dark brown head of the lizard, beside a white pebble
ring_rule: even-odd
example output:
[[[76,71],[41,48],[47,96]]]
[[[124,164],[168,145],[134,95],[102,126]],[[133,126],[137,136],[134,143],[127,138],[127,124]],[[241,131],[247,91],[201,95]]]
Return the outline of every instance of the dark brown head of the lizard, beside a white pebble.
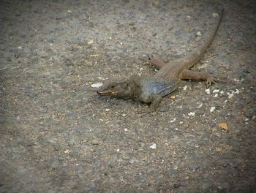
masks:
[[[124,78],[106,81],[97,91],[100,96],[113,96],[121,99],[132,99],[131,83]]]

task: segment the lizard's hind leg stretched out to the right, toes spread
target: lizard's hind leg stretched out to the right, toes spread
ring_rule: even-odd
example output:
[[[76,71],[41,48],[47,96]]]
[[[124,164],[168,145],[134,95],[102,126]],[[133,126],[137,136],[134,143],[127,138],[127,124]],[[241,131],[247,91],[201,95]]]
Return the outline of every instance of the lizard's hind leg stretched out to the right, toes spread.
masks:
[[[181,72],[181,79],[190,79],[190,80],[205,80],[206,86],[211,86],[216,83],[216,78],[208,72],[195,72],[189,69],[184,69]]]

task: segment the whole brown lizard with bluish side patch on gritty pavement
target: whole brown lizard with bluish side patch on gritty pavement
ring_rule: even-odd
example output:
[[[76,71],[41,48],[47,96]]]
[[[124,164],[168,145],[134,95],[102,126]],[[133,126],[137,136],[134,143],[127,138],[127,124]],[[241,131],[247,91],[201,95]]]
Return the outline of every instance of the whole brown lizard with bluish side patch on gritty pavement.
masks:
[[[120,99],[135,99],[140,102],[149,103],[150,111],[153,112],[159,107],[162,98],[178,88],[181,80],[205,80],[207,86],[211,86],[218,80],[208,72],[195,72],[191,68],[202,58],[208,47],[211,45],[222,20],[223,9],[218,15],[217,26],[214,31],[205,39],[199,49],[192,51],[184,58],[178,58],[165,64],[161,59],[154,59],[148,55],[145,59],[158,72],[151,77],[140,77],[132,75],[128,78],[118,77],[107,80],[98,89],[100,96],[113,96]]]

